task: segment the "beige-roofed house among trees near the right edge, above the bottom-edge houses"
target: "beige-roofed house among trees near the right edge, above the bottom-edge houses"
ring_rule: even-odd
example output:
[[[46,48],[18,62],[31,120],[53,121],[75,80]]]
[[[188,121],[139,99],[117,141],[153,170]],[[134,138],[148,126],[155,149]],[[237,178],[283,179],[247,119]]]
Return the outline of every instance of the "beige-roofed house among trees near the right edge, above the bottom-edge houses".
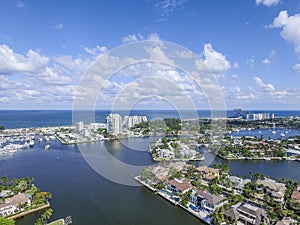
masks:
[[[258,190],[270,194],[271,198],[273,198],[275,202],[283,203],[286,190],[285,184],[276,182],[269,178],[258,179],[257,184]]]

